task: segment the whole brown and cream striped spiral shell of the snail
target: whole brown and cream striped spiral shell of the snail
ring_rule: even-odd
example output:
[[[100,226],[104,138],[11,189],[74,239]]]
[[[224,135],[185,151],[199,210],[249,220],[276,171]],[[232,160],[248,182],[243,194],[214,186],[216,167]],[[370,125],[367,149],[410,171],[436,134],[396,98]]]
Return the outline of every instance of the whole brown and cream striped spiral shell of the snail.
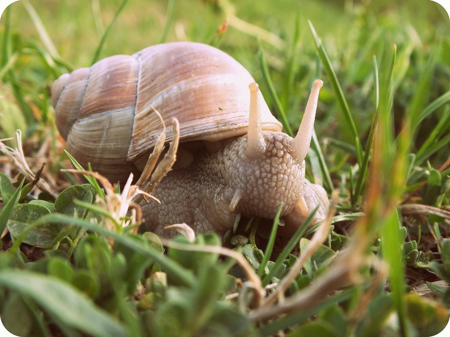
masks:
[[[180,142],[216,142],[247,133],[250,73],[206,44],[157,44],[116,55],[64,74],[54,82],[52,105],[67,150],[112,182],[138,173],[136,163],[153,148],[162,125],[180,122]],[[281,131],[261,93],[262,129]]]

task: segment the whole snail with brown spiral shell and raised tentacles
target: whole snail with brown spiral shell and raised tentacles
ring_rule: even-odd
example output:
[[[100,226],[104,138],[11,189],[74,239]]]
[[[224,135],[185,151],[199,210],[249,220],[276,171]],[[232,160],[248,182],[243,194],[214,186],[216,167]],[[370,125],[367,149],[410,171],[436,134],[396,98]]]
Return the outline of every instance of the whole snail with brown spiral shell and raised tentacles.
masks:
[[[295,138],[281,132],[250,73],[200,43],[105,58],[60,76],[51,100],[67,151],[112,182],[142,172],[162,129],[156,111],[166,142],[172,118],[179,120],[177,161],[153,191],[161,204],[141,204],[157,235],[170,236],[164,227],[181,222],[224,234],[238,213],[273,219],[281,202],[279,234],[291,235],[316,206],[311,224],[329,208],[324,188],[305,179],[322,84],[314,82]]]

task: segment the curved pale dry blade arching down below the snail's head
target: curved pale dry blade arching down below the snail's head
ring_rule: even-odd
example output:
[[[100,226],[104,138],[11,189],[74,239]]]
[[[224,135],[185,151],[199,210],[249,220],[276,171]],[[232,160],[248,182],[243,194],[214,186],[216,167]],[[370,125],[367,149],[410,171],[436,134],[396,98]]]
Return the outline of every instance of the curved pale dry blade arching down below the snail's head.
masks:
[[[234,258],[247,274],[249,282],[252,284],[251,287],[254,289],[254,302],[256,303],[257,307],[260,306],[262,296],[264,294],[264,288],[262,288],[261,279],[258,277],[255,270],[242,253],[238,253],[229,248],[219,246],[202,244],[181,244],[179,242],[174,242],[167,239],[161,239],[161,242],[163,245],[175,249],[188,250],[192,252],[217,253]]]

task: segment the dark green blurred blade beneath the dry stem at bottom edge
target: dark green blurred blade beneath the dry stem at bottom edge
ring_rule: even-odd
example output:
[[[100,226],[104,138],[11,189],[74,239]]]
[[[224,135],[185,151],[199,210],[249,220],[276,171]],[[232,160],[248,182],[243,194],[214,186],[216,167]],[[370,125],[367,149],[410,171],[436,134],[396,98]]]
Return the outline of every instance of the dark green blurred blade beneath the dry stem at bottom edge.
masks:
[[[347,288],[343,290],[341,293],[337,293],[330,297],[327,297],[324,301],[320,302],[312,309],[293,312],[292,314],[286,315],[280,319],[275,320],[274,322],[267,324],[266,326],[263,326],[258,330],[258,336],[261,337],[272,336],[280,330],[284,330],[286,328],[300,324],[305,319],[308,319],[313,315],[317,315],[320,312],[327,310],[332,306],[348,301],[352,296],[354,296],[354,294],[355,288]]]

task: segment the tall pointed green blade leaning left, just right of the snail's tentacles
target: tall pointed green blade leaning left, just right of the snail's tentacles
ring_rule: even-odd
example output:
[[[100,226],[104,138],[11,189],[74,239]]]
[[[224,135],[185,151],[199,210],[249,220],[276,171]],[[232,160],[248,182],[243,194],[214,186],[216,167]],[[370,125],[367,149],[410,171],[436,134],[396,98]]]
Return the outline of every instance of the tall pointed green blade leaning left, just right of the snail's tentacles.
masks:
[[[358,163],[361,165],[363,155],[361,153],[361,150],[358,150],[358,148],[362,149],[360,138],[358,137],[358,132],[356,131],[355,122],[353,121],[353,117],[351,116],[350,109],[348,108],[347,101],[344,97],[344,93],[342,92],[341,85],[338,82],[338,77],[336,76],[336,73],[333,70],[333,67],[331,65],[331,62],[328,58],[327,53],[325,52],[325,49],[322,45],[322,42],[320,41],[319,36],[317,35],[314,26],[312,25],[311,21],[308,20],[309,26],[311,28],[311,32],[314,36],[315,45],[317,48],[317,51],[319,52],[320,59],[322,60],[322,64],[324,66],[325,72],[327,73],[327,76],[329,78],[330,84],[333,87],[333,91],[338,98],[339,105],[341,106],[342,112],[344,113],[344,117],[347,120],[347,124],[350,127],[350,131],[352,133],[352,138],[355,139],[355,147],[356,147],[356,157],[358,159]],[[359,144],[357,144],[359,143]]]

